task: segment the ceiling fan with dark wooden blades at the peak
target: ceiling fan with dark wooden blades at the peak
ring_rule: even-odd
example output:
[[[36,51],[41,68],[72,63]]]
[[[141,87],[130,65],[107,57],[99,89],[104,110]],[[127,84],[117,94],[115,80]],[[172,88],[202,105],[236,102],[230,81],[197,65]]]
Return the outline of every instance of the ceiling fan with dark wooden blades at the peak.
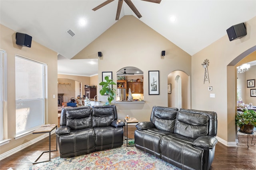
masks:
[[[98,9],[100,9],[101,7],[109,4],[110,2],[112,2],[114,0],[106,0],[105,2],[103,2],[102,4],[96,6],[95,8],[93,8],[92,10],[96,11]],[[118,6],[117,6],[117,11],[116,11],[116,20],[119,20],[119,16],[120,16],[120,12],[121,12],[121,8],[122,8],[122,4],[123,1],[126,2],[126,4],[131,8],[131,10],[136,14],[136,16],[138,18],[141,18],[141,14],[140,12],[137,10],[137,8],[134,6],[134,4],[132,3],[131,0],[118,0]],[[147,1],[147,2],[153,2],[153,3],[157,3],[160,4],[161,0],[143,0],[143,1]]]

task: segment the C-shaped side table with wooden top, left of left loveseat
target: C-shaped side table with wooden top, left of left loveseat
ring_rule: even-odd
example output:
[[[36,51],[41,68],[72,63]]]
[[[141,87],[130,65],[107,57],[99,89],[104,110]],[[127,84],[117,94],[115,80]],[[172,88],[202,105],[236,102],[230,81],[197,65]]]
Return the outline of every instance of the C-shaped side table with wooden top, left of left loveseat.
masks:
[[[56,136],[56,150],[51,150],[51,132],[53,131],[53,129],[57,130],[57,125],[43,125],[41,127],[39,127],[38,129],[36,129],[35,131],[33,131],[32,134],[38,134],[38,133],[49,133],[49,150],[47,151],[43,151],[38,158],[35,160],[35,162],[33,162],[33,164],[38,164],[41,162],[48,162],[51,161],[51,152],[52,151],[57,151],[57,136]],[[41,161],[41,162],[36,162],[44,153],[49,152],[49,160],[45,160],[45,161]]]

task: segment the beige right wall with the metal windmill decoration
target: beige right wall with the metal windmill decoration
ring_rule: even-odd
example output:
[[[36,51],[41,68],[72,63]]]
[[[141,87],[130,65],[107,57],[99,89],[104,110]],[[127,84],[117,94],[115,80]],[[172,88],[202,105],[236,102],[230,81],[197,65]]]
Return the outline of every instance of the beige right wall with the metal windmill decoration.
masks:
[[[192,108],[216,111],[217,136],[227,143],[235,143],[236,136],[235,64],[243,58],[240,54],[256,45],[256,17],[247,21],[246,27],[245,37],[229,41],[228,35],[225,35],[192,56]],[[235,60],[236,58],[239,58],[238,61]],[[204,83],[204,68],[201,64],[205,59],[210,62],[208,66],[210,83]],[[208,91],[208,86],[212,86],[213,90]],[[210,93],[215,94],[215,98],[210,98]]]

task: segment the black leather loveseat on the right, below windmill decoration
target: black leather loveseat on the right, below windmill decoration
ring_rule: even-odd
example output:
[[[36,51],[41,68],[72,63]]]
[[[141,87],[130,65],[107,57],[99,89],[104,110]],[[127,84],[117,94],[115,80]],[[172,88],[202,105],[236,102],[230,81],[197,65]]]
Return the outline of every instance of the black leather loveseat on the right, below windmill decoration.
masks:
[[[217,114],[154,106],[136,125],[135,146],[183,170],[209,170],[217,139]]]

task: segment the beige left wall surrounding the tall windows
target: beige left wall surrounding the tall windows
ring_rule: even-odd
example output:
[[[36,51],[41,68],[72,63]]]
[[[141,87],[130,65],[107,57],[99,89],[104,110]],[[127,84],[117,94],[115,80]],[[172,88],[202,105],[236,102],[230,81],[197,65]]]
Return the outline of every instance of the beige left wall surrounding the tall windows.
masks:
[[[27,135],[15,140],[15,55],[21,55],[29,59],[47,64],[46,77],[46,110],[45,122],[50,124],[58,123],[57,110],[57,53],[32,41],[31,48],[16,45],[13,30],[0,25],[0,48],[7,52],[7,102],[4,102],[4,139],[11,139],[10,143],[0,147],[0,154],[14,149],[39,135]],[[31,35],[33,37],[33,35]]]

